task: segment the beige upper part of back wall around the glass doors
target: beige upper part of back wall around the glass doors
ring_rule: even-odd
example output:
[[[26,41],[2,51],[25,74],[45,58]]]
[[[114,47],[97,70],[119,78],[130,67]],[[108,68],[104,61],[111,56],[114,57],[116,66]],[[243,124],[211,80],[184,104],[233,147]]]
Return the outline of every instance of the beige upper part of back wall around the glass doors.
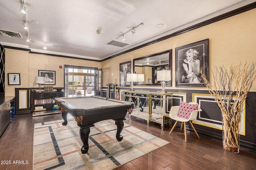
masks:
[[[55,71],[56,87],[63,87],[64,65],[100,68],[100,62],[69,59],[48,55],[37,55],[14,49],[6,49],[5,96],[15,96],[15,87],[38,87],[34,83],[38,70]],[[59,68],[59,66],[62,68]],[[8,73],[20,73],[20,85],[8,85]]]

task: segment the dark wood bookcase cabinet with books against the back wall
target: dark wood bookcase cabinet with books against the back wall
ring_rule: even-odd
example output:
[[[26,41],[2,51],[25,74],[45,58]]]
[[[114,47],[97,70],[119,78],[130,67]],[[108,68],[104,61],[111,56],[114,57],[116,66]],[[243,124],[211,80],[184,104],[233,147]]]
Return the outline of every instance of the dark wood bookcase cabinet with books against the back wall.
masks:
[[[32,116],[61,113],[54,98],[64,97],[64,92],[32,92]]]

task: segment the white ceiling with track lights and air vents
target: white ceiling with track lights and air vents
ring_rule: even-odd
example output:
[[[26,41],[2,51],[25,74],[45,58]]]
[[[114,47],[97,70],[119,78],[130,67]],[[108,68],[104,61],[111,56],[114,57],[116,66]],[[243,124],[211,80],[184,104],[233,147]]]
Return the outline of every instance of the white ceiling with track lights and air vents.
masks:
[[[230,12],[255,0],[24,0],[28,33],[23,29],[22,0],[0,0],[0,29],[23,39],[0,35],[0,43],[38,53],[101,60],[186,27]],[[125,47],[107,45],[125,35]],[[158,28],[156,25],[164,24]],[[101,33],[97,34],[96,30]],[[121,41],[122,37],[117,40]],[[47,50],[43,45],[47,43]]]

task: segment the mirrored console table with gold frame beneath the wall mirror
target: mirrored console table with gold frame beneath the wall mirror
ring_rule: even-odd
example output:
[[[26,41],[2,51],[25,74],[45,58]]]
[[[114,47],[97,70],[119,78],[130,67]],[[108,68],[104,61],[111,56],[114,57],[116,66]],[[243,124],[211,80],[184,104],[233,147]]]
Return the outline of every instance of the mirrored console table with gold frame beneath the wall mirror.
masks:
[[[169,117],[170,108],[172,107],[173,93],[157,93],[157,92],[143,92],[143,91],[124,91],[124,100],[134,102],[132,116],[140,117],[150,122],[161,124],[161,129],[164,125],[170,124]]]

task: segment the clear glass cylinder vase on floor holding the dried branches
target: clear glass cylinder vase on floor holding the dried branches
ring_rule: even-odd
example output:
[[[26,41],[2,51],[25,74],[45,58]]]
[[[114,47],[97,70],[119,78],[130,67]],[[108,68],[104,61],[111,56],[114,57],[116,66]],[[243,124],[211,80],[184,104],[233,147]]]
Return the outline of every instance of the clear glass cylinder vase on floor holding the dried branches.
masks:
[[[230,116],[222,113],[222,143],[223,149],[239,153],[240,147],[240,116]]]

